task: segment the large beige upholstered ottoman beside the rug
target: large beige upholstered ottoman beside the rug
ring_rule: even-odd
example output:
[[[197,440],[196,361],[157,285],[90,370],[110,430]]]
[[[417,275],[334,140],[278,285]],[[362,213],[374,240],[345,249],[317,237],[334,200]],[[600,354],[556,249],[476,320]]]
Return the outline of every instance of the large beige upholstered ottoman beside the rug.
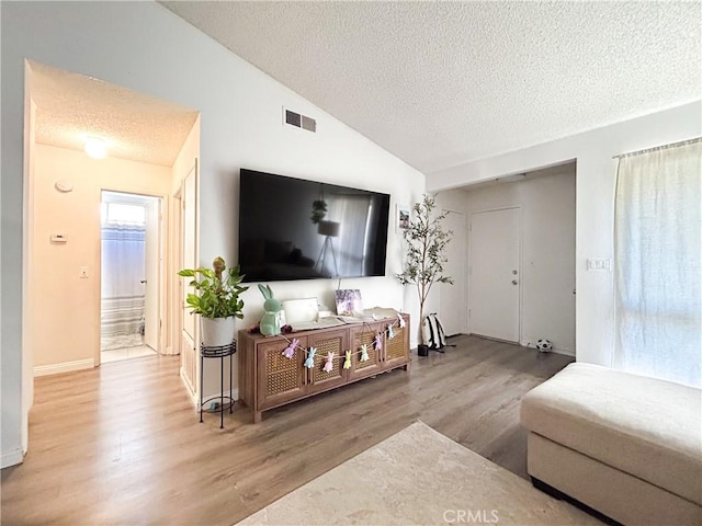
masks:
[[[528,471],[627,525],[702,525],[702,391],[590,364],[528,392]]]

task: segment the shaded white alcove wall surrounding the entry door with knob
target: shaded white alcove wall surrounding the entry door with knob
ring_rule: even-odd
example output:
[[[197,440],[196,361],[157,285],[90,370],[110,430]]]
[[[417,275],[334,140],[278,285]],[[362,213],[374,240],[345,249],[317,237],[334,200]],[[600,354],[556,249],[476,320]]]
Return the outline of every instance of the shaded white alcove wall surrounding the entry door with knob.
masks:
[[[575,355],[575,164],[569,163],[529,174],[524,181],[439,194],[440,203],[462,206],[468,221],[474,213],[521,207],[520,343],[534,346],[540,338],[545,338],[555,350],[571,355]],[[466,244],[469,260],[467,240]],[[454,286],[465,287],[466,279],[467,276],[461,276]],[[476,300],[479,298],[468,297],[468,305],[475,305]]]

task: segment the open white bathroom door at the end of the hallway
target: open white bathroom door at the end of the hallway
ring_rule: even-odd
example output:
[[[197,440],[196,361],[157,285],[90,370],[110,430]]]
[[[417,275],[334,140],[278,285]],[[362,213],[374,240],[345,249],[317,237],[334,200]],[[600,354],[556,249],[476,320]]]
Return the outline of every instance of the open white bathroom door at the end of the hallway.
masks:
[[[160,352],[160,245],[161,199],[150,198],[146,205],[146,236],[144,253],[146,276],[144,284],[144,343]]]

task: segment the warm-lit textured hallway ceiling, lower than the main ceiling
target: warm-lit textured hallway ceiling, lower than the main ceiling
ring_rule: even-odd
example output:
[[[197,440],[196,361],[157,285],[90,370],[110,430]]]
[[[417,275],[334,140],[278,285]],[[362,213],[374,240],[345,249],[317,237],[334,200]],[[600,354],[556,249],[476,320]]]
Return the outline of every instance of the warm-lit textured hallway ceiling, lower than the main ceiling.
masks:
[[[126,88],[37,62],[30,67],[36,142],[82,150],[86,138],[97,136],[110,157],[171,167],[197,118],[197,112]]]

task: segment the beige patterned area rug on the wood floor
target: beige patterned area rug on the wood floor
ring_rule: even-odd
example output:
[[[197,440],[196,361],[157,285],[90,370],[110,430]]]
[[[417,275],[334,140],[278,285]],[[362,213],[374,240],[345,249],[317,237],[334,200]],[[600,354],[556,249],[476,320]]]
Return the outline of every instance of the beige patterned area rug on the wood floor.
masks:
[[[239,525],[599,525],[422,422]]]

